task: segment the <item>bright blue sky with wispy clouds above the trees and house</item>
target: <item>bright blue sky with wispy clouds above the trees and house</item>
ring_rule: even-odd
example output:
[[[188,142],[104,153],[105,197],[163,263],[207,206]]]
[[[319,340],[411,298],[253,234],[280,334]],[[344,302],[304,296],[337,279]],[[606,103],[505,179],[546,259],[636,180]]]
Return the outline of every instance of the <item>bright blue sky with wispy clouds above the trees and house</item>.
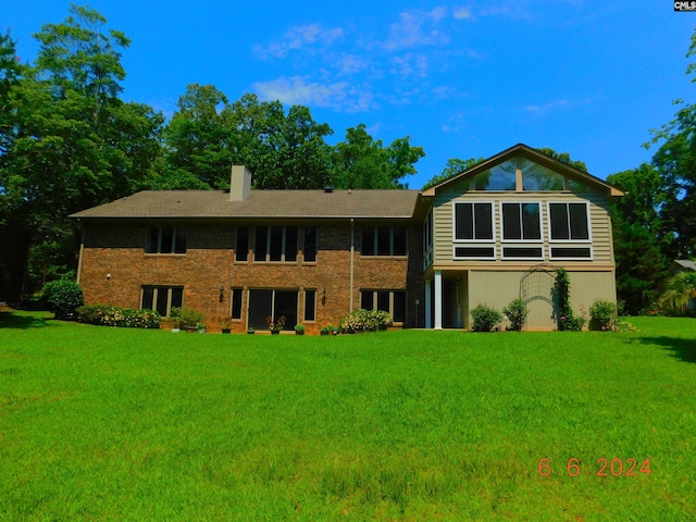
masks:
[[[79,2],[76,2],[82,4]],[[123,51],[124,98],[171,116],[191,83],[308,105],[345,138],[364,123],[385,145],[410,136],[426,157],[420,188],[450,158],[518,142],[550,147],[608,174],[649,161],[641,146],[694,102],[685,53],[696,13],[668,0],[92,0]],[[3,0],[23,61],[32,34],[69,2]]]

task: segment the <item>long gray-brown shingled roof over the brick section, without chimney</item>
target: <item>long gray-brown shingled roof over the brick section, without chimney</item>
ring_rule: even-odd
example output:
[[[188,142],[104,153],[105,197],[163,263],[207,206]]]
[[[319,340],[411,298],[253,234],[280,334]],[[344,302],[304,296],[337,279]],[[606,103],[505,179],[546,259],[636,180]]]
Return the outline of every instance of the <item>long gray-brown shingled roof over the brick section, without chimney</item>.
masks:
[[[245,201],[222,190],[145,190],[71,217],[411,217],[418,199],[418,190],[252,190]]]

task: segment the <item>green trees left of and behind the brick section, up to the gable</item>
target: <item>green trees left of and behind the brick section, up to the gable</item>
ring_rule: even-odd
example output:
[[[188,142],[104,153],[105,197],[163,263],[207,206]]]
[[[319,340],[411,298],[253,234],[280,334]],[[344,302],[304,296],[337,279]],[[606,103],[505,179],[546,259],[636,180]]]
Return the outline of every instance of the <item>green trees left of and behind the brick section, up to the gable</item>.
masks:
[[[34,236],[29,293],[74,271],[71,213],[144,189],[228,187],[233,163],[254,173],[253,188],[403,188],[425,156],[408,136],[385,145],[364,124],[331,146],[334,130],[309,108],[252,94],[231,102],[212,85],[189,85],[166,121],[123,99],[130,41],[86,7],[34,36],[37,58],[22,63],[11,33],[0,34],[0,227]]]

